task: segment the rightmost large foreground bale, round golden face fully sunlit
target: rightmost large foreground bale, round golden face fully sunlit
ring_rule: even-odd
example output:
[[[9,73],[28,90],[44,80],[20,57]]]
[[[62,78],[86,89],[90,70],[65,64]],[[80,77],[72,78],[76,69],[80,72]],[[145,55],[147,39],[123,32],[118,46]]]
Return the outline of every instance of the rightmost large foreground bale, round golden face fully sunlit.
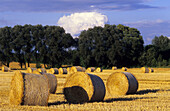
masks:
[[[138,89],[138,81],[129,72],[112,73],[106,82],[110,95],[134,94]]]

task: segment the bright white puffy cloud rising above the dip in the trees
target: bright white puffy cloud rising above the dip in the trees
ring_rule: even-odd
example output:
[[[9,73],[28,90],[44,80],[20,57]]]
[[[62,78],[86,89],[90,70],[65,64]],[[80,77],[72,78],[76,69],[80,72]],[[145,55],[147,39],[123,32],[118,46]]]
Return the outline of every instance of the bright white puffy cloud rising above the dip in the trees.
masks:
[[[97,12],[74,13],[63,16],[58,20],[58,25],[63,27],[72,36],[80,34],[81,31],[93,28],[94,26],[104,26],[108,22],[106,15]]]

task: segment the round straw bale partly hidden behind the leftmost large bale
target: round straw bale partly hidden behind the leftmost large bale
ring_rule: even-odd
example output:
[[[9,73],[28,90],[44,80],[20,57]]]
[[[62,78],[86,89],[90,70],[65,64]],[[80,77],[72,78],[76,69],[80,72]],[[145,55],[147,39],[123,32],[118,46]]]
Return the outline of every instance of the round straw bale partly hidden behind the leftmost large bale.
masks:
[[[57,89],[57,78],[53,74],[49,73],[43,73],[43,76],[45,76],[49,83],[49,92],[52,94],[55,94]]]

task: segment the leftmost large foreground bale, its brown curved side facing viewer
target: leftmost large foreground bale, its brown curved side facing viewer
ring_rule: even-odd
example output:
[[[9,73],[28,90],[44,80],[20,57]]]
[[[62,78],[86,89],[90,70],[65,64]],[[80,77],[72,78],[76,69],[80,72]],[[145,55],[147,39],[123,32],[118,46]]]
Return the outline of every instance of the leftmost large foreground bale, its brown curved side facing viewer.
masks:
[[[16,71],[10,87],[10,104],[47,106],[48,80],[45,76]]]

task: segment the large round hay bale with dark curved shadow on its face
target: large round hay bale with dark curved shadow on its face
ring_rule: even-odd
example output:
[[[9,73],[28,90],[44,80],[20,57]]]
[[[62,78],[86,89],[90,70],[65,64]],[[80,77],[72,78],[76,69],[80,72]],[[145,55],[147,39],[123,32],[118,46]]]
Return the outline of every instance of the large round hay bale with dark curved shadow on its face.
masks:
[[[69,103],[102,101],[105,97],[105,85],[97,75],[85,72],[70,74],[64,84],[64,96]]]

